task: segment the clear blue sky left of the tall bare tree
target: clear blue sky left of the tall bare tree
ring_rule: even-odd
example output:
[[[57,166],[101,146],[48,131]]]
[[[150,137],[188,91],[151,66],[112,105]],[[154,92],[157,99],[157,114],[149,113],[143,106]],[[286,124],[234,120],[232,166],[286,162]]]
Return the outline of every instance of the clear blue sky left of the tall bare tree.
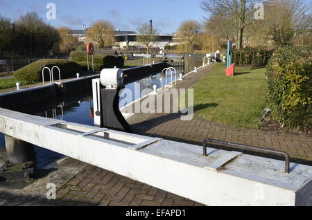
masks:
[[[26,12],[36,11],[55,26],[81,29],[98,19],[107,19],[115,29],[137,30],[138,24],[153,19],[159,33],[174,33],[181,21],[202,21],[201,0],[0,0],[0,15],[13,21]],[[55,3],[56,19],[46,19],[47,3]]]

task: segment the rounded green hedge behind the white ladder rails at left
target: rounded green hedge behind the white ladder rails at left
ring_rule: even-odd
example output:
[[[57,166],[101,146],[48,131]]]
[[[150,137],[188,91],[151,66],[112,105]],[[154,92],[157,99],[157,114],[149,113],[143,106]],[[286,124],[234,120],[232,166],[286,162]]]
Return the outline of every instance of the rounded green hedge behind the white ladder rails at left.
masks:
[[[27,83],[42,82],[42,68],[45,66],[49,68],[58,66],[62,79],[65,77],[75,77],[76,73],[81,72],[81,66],[76,64],[76,62],[70,62],[65,59],[40,59],[15,71],[14,77],[16,80]],[[54,79],[58,79],[58,71],[55,72]],[[50,80],[47,71],[45,73],[45,80]]]

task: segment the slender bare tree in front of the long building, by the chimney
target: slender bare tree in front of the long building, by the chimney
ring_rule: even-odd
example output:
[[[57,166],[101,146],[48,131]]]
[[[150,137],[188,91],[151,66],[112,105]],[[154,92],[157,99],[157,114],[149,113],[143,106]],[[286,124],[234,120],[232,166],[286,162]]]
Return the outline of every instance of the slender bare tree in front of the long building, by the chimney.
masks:
[[[157,42],[159,36],[157,36],[157,30],[151,26],[148,22],[138,26],[137,31],[137,41],[144,44],[147,48],[147,53],[150,53],[150,48],[153,46],[154,42]]]

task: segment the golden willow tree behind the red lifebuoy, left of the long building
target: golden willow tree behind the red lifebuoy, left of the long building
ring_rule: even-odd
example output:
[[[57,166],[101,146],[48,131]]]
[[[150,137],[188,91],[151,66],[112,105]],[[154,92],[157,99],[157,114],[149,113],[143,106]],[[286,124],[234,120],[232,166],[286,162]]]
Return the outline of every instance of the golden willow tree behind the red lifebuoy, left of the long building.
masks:
[[[96,42],[101,48],[114,44],[114,26],[110,21],[98,20],[87,30],[87,39]]]

